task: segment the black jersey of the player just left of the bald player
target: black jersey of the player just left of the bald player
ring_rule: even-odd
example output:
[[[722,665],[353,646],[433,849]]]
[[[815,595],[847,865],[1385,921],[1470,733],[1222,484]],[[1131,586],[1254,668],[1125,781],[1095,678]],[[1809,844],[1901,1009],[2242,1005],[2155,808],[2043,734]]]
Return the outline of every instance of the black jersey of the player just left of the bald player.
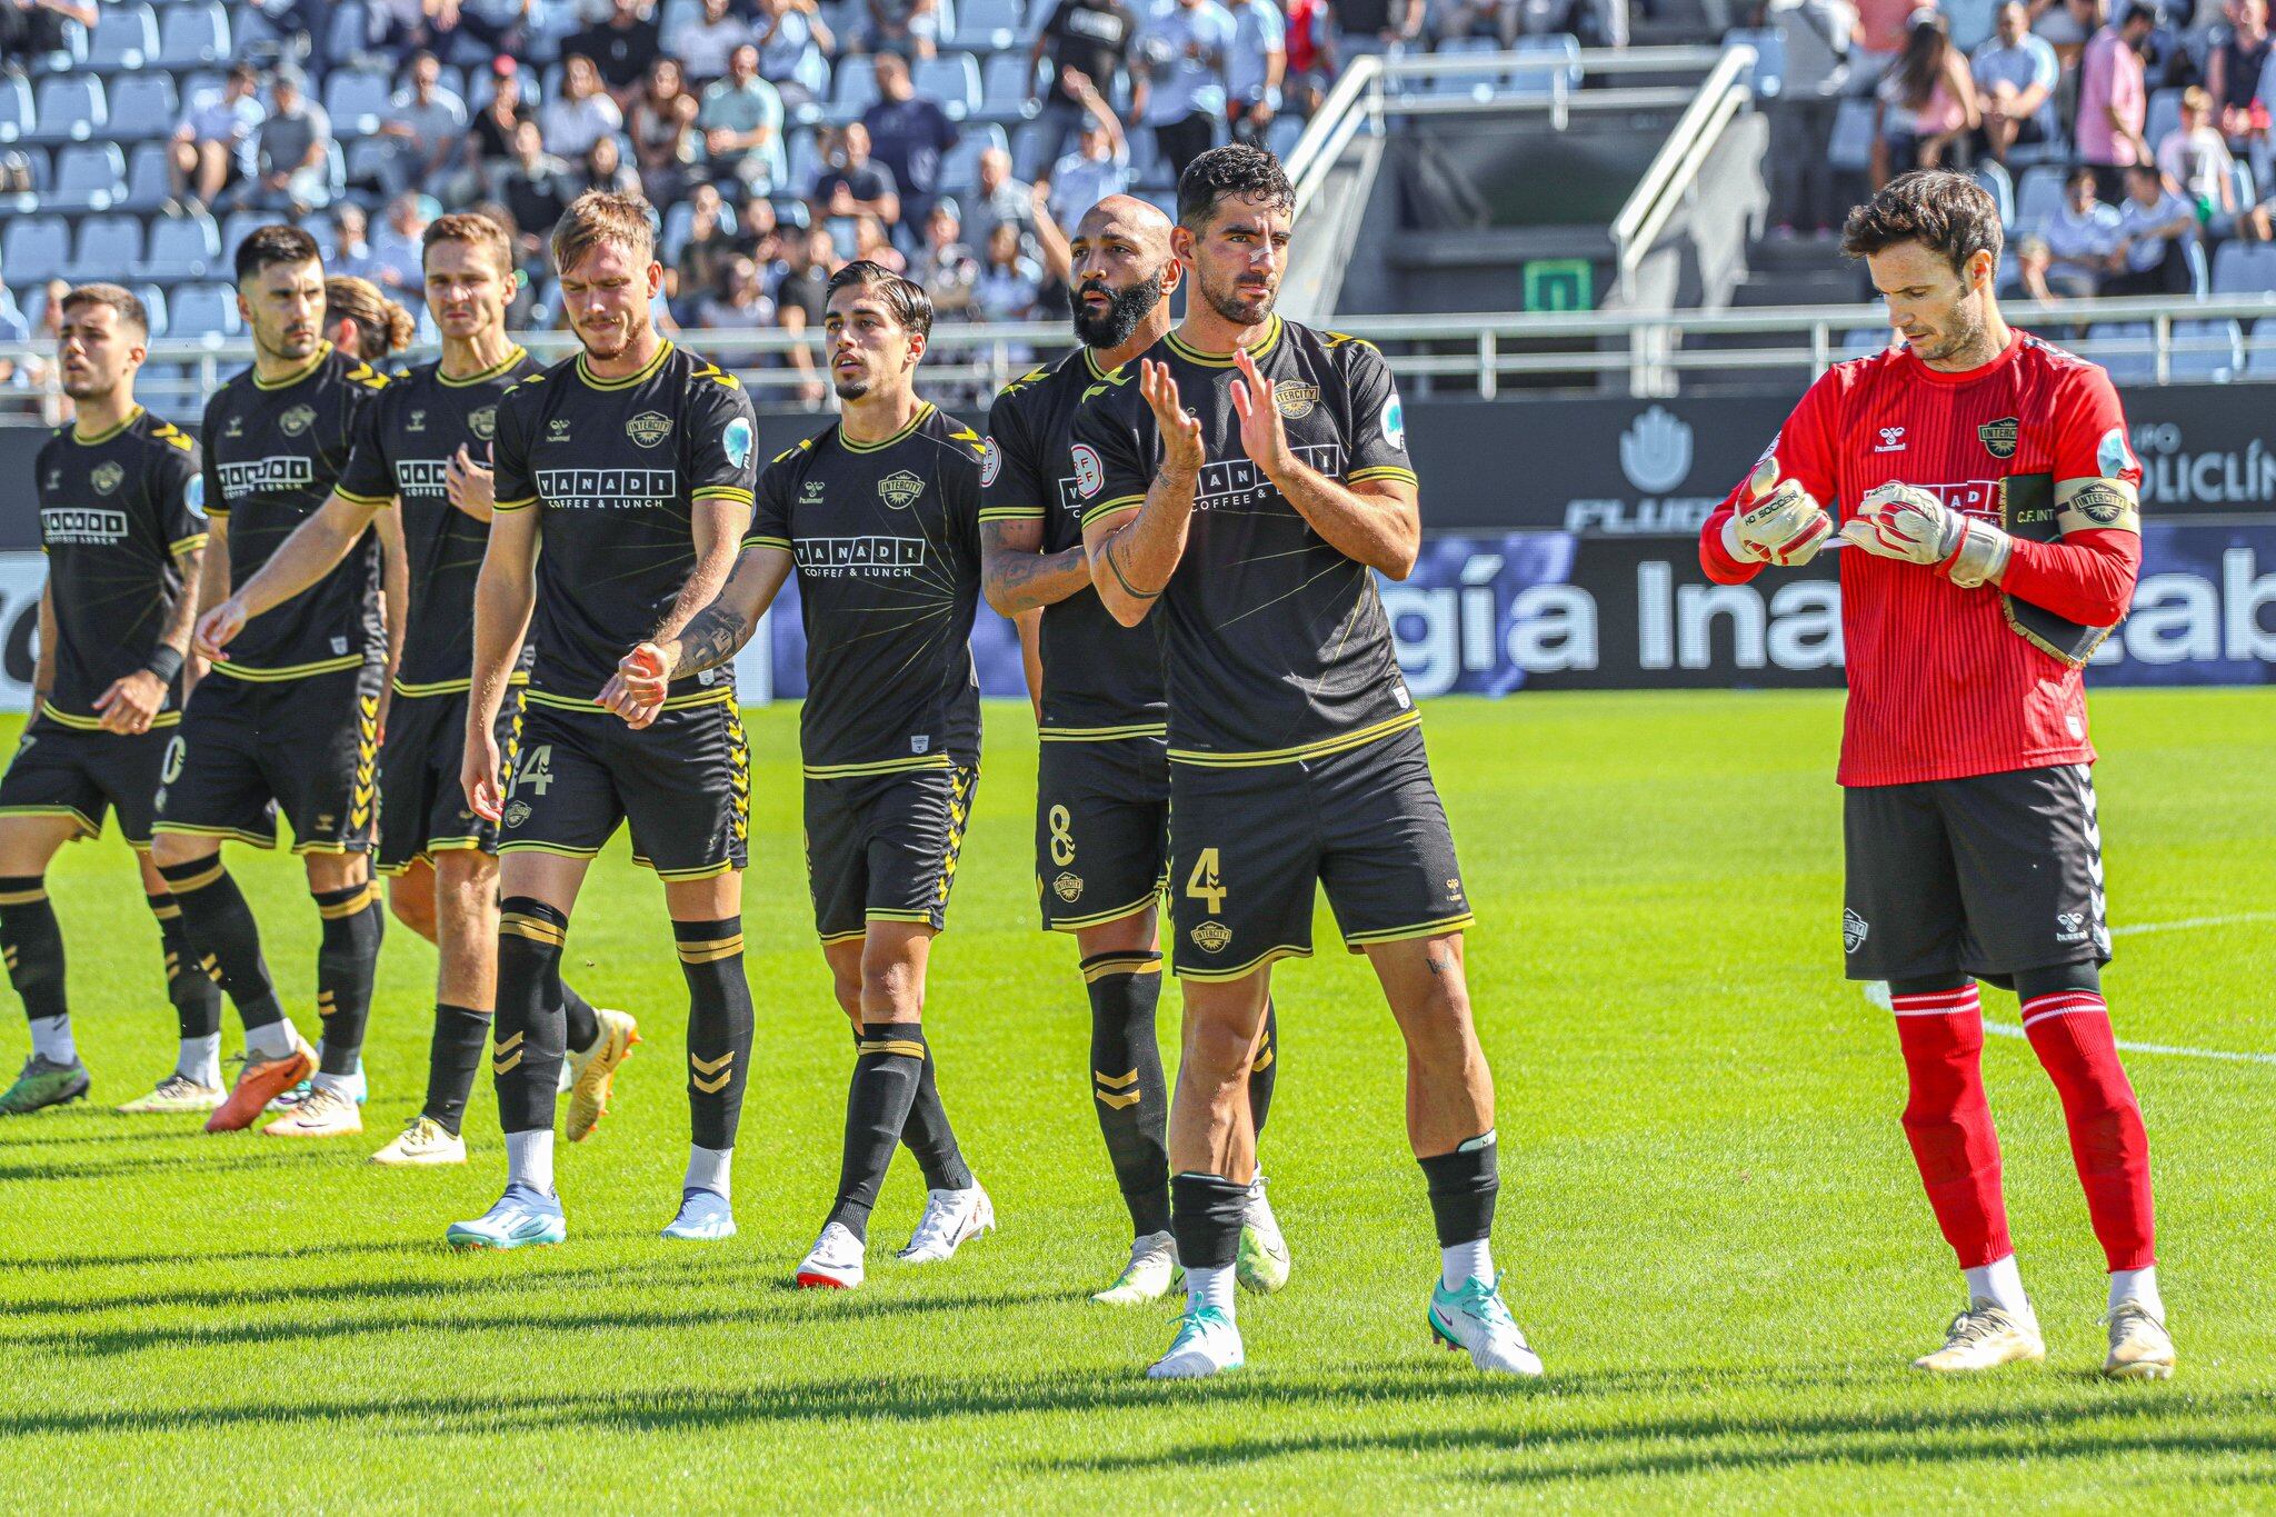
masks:
[[[885,441],[833,425],[760,475],[744,546],[799,566],[808,778],[979,757],[979,509],[981,437],[931,403]]]

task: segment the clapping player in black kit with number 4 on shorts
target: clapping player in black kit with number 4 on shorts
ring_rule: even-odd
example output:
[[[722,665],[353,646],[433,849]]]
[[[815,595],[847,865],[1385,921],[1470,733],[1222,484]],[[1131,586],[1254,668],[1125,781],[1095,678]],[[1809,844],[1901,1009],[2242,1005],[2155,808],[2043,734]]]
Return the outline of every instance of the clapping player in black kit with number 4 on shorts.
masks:
[[[1470,1023],[1470,901],[1375,573],[1420,550],[1391,368],[1272,314],[1295,196],[1261,148],[1177,186],[1186,321],[1074,416],[1090,582],[1154,614],[1170,703],[1170,889],[1186,1046],[1170,1219],[1186,1315],[1147,1371],[1243,1362],[1234,1255],[1256,1169],[1247,1076],[1272,964],[1311,953],[1318,885],[1407,1039],[1407,1133],[1438,1226],[1432,1328],[1482,1369],[1541,1374],[1502,1305],[1493,1076]],[[1188,409],[1190,407],[1190,409]]]

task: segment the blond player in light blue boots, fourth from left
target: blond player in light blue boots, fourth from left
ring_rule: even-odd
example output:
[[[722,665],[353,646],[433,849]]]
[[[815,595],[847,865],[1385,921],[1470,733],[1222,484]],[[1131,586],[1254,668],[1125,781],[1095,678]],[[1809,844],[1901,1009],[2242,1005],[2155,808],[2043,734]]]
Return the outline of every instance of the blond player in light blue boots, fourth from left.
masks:
[[[562,214],[553,268],[583,350],[498,403],[460,782],[469,810],[501,823],[492,1073],[505,1194],[451,1226],[457,1246],[567,1237],[553,1189],[553,1094],[569,1037],[562,946],[585,871],[626,821],[633,857],[665,882],[690,1001],[692,1146],[665,1237],[735,1235],[728,1169],[751,1064],[751,987],[749,760],[733,671],[671,682],[637,732],[596,701],[624,648],[676,637],[719,594],[751,523],[751,398],[655,330],[649,309],[665,268],[649,214],[635,196],[599,191]],[[498,714],[530,628],[537,657],[501,778]]]

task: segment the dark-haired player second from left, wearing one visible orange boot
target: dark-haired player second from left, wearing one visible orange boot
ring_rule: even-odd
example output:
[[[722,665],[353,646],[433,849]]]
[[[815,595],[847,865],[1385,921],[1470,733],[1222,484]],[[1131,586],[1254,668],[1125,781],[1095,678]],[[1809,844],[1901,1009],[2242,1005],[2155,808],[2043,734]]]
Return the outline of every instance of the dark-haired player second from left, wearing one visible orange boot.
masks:
[[[218,605],[332,494],[364,407],[387,387],[371,364],[319,337],[323,262],[287,225],[237,246],[237,307],[253,330],[253,368],[205,405],[203,600]],[[207,1133],[253,1124],[271,1096],[314,1071],[307,1099],[269,1124],[275,1137],[362,1133],[355,1064],[371,1017],[380,905],[371,889],[376,744],[387,635],[378,537],[250,628],[198,682],[166,748],[150,855],[173,887],[198,958],[246,1023],[246,1069]],[[275,816],[323,919],[316,1012],[323,1062],[300,1039],[262,960],[259,930],[221,862],[223,839],[278,842]]]

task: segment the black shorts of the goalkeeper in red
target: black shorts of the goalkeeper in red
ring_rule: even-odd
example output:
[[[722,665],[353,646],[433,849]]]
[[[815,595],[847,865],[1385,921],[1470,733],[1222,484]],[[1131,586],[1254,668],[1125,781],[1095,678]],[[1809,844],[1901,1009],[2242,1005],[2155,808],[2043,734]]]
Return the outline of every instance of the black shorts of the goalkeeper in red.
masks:
[[[1844,791],[1853,980],[2108,964],[2103,835],[2085,764]]]

